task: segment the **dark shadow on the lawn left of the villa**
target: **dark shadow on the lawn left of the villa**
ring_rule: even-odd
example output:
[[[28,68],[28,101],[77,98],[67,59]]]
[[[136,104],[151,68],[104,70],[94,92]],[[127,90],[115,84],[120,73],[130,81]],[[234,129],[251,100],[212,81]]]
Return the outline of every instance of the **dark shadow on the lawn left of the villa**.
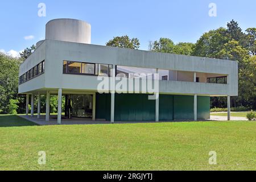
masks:
[[[0,115],[0,127],[16,127],[16,126],[38,126],[36,123],[27,121],[18,115]]]

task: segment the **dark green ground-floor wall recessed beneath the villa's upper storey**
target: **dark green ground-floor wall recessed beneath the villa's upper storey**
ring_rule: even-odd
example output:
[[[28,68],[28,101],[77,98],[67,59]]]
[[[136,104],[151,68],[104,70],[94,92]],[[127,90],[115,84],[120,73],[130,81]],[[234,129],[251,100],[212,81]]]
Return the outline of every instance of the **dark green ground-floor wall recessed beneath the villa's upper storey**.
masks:
[[[159,96],[159,120],[193,119],[193,96]],[[96,95],[96,118],[110,121],[110,94]],[[197,97],[197,118],[210,118],[210,97]],[[115,94],[115,121],[155,121],[155,100],[147,94]]]

